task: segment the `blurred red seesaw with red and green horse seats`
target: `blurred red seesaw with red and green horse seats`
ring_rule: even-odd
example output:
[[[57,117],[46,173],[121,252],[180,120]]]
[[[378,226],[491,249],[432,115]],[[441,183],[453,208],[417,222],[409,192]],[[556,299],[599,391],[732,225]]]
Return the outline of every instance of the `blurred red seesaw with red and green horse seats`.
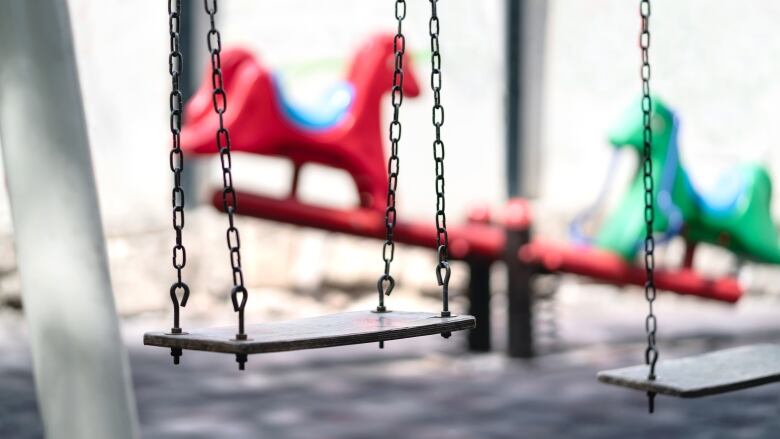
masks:
[[[301,106],[291,102],[279,77],[253,55],[241,49],[226,50],[223,60],[224,88],[234,101],[225,113],[229,127],[241,151],[288,158],[294,166],[289,195],[272,197],[235,190],[242,199],[240,214],[319,228],[358,236],[386,238],[385,206],[378,203],[385,191],[386,160],[380,120],[380,98],[389,91],[385,81],[392,76],[393,37],[371,38],[352,58],[344,81],[334,85],[319,100],[320,104]],[[404,97],[419,93],[418,81],[410,61],[403,58]],[[384,79],[383,79],[384,78]],[[209,118],[212,103],[212,79],[204,83],[187,105],[187,118],[181,134],[182,148],[192,154],[213,153],[213,132],[218,123]],[[693,268],[697,242],[724,245],[740,255],[771,261],[771,251],[760,242],[751,242],[747,227],[761,224],[771,227],[768,216],[768,179],[760,172],[741,168],[740,190],[713,195],[694,189],[680,164],[677,146],[679,122],[660,101],[652,107],[658,125],[653,138],[656,162],[654,178],[661,182],[657,191],[658,207],[654,230],[659,242],[682,235],[686,239],[686,257],[681,267],[655,270],[659,289],[678,294],[733,303],[743,294],[737,280],[730,276],[708,277]],[[635,109],[610,134],[615,148],[643,148],[643,113]],[[355,182],[358,205],[332,208],[310,204],[297,197],[300,169],[318,163],[345,170]],[[755,168],[754,168],[755,169]],[[765,175],[764,175],[765,176]],[[752,180],[751,180],[752,179]],[[609,187],[607,179],[605,187]],[[536,295],[532,278],[543,273],[572,273],[615,285],[644,286],[646,273],[633,263],[642,244],[644,217],[637,209],[642,201],[644,177],[639,172],[624,200],[603,227],[590,239],[556,243],[532,237],[532,214],[524,200],[510,200],[500,223],[491,223],[490,213],[475,209],[465,224],[449,228],[449,256],[469,265],[470,314],[482,322],[469,335],[473,350],[490,349],[489,282],[490,266],[497,260],[508,264],[509,351],[513,356],[534,355],[532,320]],[[735,185],[736,187],[736,185]],[[744,200],[751,201],[745,204]],[[724,200],[732,201],[726,202]],[[733,201],[737,200],[737,201]],[[215,190],[213,205],[223,211],[222,190]],[[730,204],[729,204],[730,203]],[[714,206],[731,206],[715,209]],[[745,208],[745,206],[749,206]],[[591,211],[600,207],[597,203]],[[762,213],[763,219],[757,219]],[[575,231],[589,219],[583,215],[575,221]],[[417,246],[435,244],[435,228],[426,223],[398,221],[393,238]],[[757,245],[758,244],[758,245]],[[752,256],[751,256],[752,255]]]

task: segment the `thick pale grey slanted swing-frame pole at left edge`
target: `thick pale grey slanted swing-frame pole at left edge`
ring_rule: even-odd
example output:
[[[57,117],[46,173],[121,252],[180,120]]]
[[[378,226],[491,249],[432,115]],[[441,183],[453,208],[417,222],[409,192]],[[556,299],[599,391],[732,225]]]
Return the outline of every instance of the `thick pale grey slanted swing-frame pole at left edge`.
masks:
[[[136,438],[67,2],[4,2],[0,139],[47,438]]]

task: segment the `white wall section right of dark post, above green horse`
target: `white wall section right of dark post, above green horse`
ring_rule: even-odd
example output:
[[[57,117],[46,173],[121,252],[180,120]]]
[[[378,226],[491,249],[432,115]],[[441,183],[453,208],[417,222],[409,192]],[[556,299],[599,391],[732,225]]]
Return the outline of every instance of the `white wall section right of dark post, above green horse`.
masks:
[[[606,131],[641,93],[637,3],[551,2],[542,168],[544,199],[557,209],[595,196]],[[651,86],[681,117],[682,160],[698,185],[748,160],[780,184],[778,16],[771,0],[653,2]]]

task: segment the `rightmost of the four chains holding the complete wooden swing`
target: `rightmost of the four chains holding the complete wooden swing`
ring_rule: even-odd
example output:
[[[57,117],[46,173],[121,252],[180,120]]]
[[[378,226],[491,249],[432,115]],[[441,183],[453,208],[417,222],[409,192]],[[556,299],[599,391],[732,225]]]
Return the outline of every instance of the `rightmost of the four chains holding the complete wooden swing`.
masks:
[[[441,127],[444,125],[444,107],[441,105],[441,53],[439,52],[439,16],[436,6],[439,0],[430,0],[431,19],[428,31],[431,35],[431,90],[433,90],[433,127],[436,138],[433,141],[433,160],[436,168],[436,250],[439,263],[436,265],[436,279],[442,287],[442,317],[449,317],[450,263],[448,255],[449,235],[444,198],[444,142]],[[443,334],[444,335],[444,334]],[[446,336],[446,335],[445,335]]]

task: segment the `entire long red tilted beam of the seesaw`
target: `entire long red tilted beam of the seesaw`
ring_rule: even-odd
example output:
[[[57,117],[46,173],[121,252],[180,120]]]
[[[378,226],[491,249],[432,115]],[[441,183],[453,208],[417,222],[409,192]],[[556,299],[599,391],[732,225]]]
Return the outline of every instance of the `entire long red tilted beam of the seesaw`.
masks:
[[[293,198],[279,199],[248,192],[239,192],[238,199],[240,215],[369,238],[383,239],[385,236],[384,214],[376,210],[333,209],[301,203]],[[218,209],[222,208],[219,191],[214,194],[212,203]],[[508,210],[510,217],[527,217],[525,214],[512,214],[512,209]],[[506,241],[501,227],[484,223],[450,226],[449,237],[450,255],[454,259],[480,256],[498,260]],[[436,233],[433,221],[430,224],[399,221],[395,227],[395,239],[404,244],[434,248]],[[643,286],[645,283],[643,269],[626,263],[612,253],[592,247],[534,239],[520,249],[518,257],[521,263],[550,272],[578,274],[614,285]],[[659,290],[678,294],[731,303],[739,300],[743,294],[742,287],[733,277],[706,278],[687,268],[656,270],[655,276]]]

